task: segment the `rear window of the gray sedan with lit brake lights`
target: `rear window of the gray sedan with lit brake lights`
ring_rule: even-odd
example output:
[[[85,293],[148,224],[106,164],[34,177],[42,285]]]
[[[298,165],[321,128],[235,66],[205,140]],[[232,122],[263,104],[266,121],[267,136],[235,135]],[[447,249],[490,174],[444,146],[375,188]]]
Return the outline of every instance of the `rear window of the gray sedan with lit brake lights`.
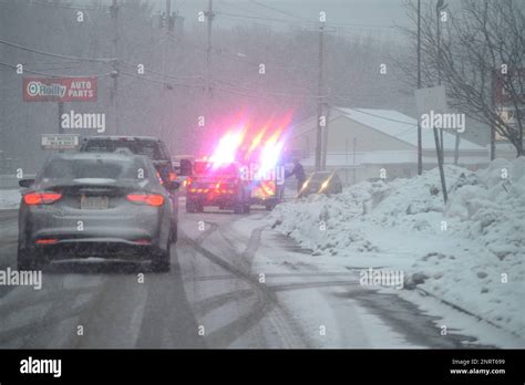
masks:
[[[140,169],[143,174],[140,175]],[[140,179],[147,177],[148,168],[138,160],[127,159],[53,159],[43,169],[45,179]]]

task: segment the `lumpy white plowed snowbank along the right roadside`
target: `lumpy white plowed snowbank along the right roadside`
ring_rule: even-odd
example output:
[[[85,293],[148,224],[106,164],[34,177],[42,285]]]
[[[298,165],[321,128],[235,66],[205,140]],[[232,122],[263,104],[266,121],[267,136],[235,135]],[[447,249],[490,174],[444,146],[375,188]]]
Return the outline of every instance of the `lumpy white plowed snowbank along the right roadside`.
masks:
[[[403,272],[403,290],[384,290],[431,314],[450,320],[437,298],[524,337],[525,158],[476,173],[447,165],[445,175],[446,206],[433,169],[279,205],[270,225],[326,267]]]

